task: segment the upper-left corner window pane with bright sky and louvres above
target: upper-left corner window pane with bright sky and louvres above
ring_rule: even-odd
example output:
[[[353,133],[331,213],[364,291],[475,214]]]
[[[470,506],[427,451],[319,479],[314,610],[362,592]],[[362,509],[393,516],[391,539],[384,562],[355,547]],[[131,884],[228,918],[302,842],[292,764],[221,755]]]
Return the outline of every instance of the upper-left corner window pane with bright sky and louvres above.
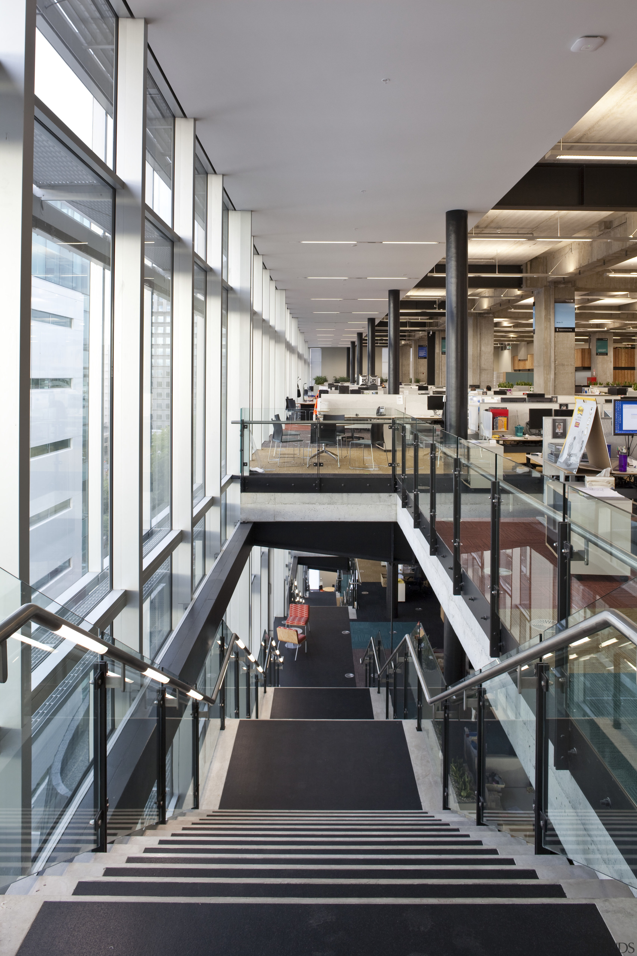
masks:
[[[113,167],[117,17],[106,0],[37,0],[35,96]]]

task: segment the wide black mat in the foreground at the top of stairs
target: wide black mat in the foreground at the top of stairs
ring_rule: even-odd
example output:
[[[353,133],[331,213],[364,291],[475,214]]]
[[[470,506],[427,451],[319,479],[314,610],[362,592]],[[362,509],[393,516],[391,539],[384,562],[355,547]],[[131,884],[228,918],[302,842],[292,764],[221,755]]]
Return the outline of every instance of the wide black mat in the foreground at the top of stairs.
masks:
[[[617,956],[592,903],[329,904],[45,900],[17,956],[438,953]]]

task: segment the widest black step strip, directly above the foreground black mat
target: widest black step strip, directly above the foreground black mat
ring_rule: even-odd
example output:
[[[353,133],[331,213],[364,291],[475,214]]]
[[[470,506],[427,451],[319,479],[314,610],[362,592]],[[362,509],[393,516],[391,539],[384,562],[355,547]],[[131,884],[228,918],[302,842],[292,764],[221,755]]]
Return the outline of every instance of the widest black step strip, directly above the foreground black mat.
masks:
[[[214,889],[214,892],[212,892]],[[101,883],[98,880],[86,880],[78,883],[73,896],[99,897],[147,897],[147,898],[260,898],[266,897],[276,902],[277,899],[336,899],[351,900],[352,902],[367,902],[370,899],[518,899],[518,900],[555,900],[566,899],[560,883],[420,883],[395,885],[363,883],[363,884],[316,884],[316,883],[218,883],[214,887],[210,883],[191,882],[181,883],[136,883],[112,882]]]

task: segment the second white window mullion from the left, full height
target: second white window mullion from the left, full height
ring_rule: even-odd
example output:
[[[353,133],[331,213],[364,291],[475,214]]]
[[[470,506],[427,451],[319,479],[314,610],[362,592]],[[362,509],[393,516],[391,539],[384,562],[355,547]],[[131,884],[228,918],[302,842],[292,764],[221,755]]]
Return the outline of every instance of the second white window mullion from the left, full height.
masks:
[[[113,587],[127,593],[115,637],[142,652],[142,389],[144,196],[146,187],[144,20],[118,20],[117,175],[113,349]]]

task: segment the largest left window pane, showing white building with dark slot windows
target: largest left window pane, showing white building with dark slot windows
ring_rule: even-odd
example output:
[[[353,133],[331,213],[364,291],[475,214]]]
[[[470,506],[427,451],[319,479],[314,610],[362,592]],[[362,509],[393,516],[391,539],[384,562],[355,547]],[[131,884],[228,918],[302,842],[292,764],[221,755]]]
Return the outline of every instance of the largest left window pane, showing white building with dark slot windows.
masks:
[[[110,588],[113,193],[34,135],[30,576],[85,614]]]

